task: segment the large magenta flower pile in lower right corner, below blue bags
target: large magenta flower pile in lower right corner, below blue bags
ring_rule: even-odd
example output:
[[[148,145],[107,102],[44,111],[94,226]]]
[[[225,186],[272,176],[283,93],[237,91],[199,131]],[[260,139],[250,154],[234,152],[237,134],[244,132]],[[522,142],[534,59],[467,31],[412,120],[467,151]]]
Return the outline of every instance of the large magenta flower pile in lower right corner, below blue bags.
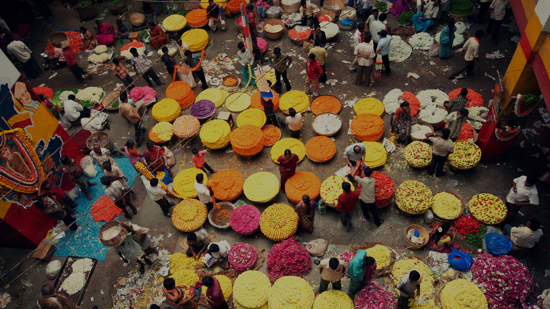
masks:
[[[532,296],[535,283],[529,269],[514,257],[483,254],[470,268],[473,282],[485,293],[489,309],[520,309]]]

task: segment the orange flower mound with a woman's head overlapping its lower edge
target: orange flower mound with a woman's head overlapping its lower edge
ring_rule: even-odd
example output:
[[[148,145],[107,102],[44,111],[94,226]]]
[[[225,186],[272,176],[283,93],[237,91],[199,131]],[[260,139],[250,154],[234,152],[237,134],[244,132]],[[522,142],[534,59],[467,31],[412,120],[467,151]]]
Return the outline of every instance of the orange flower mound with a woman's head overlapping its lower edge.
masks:
[[[284,191],[288,199],[294,203],[299,203],[305,194],[315,201],[321,191],[321,179],[311,172],[296,172],[285,183]]]

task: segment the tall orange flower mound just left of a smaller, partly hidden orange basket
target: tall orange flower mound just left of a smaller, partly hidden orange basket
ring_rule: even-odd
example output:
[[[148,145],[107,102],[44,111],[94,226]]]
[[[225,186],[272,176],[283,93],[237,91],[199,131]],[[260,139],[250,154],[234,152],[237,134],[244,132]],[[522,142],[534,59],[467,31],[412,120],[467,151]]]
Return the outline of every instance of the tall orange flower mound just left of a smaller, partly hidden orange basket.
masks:
[[[233,150],[242,156],[252,156],[263,149],[263,132],[254,125],[239,126],[229,135]]]

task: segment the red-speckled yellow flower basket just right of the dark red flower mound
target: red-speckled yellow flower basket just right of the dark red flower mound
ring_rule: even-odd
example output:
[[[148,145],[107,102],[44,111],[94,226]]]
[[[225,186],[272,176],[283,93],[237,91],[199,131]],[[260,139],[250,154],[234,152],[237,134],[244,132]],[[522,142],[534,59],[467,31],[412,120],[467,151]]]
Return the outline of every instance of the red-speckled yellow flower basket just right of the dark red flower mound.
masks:
[[[425,213],[432,203],[432,191],[419,181],[407,180],[395,190],[395,204],[406,213]]]

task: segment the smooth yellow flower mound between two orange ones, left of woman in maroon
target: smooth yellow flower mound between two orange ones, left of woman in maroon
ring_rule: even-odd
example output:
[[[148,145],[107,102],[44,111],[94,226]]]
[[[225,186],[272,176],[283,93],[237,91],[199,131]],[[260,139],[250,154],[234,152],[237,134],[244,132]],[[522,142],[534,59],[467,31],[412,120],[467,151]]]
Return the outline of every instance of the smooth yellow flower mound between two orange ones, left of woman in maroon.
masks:
[[[246,178],[243,191],[252,202],[266,203],[277,196],[279,179],[270,172],[255,173]]]

